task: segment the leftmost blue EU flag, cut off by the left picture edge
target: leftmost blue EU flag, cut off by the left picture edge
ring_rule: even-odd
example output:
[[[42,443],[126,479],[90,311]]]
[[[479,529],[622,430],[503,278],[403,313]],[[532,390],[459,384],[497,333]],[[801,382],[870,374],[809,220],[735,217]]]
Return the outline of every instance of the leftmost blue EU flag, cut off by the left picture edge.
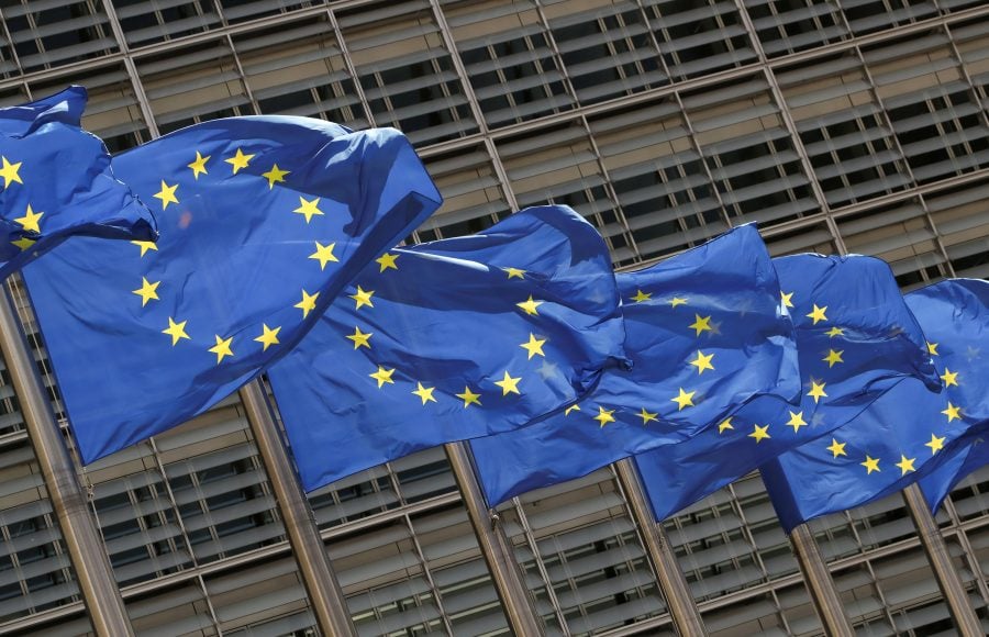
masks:
[[[86,89],[0,109],[0,280],[69,235],[154,239],[154,217],[82,131]]]

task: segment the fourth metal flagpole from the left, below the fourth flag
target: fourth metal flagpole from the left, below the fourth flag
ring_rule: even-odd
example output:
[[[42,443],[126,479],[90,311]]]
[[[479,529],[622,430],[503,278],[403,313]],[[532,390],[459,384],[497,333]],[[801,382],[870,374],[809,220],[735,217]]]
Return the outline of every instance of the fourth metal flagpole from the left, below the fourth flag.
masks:
[[[708,629],[701,619],[700,611],[697,610],[697,604],[693,603],[693,595],[690,594],[687,579],[669,545],[669,538],[654,519],[653,510],[646,500],[645,491],[643,491],[638,471],[629,458],[619,460],[613,467],[618,472],[622,491],[625,492],[625,501],[632,510],[635,525],[642,533],[643,544],[645,544],[646,552],[653,562],[659,580],[659,589],[666,599],[666,605],[669,606],[669,614],[677,633],[685,637],[707,635]]]

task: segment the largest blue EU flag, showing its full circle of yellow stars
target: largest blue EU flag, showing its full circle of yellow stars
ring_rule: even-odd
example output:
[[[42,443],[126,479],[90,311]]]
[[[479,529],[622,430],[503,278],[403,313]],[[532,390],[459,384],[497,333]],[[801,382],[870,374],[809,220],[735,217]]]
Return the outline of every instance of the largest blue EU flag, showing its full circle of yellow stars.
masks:
[[[113,167],[157,243],[78,238],[24,270],[85,462],[257,376],[440,203],[399,132],[304,118],[198,124]]]

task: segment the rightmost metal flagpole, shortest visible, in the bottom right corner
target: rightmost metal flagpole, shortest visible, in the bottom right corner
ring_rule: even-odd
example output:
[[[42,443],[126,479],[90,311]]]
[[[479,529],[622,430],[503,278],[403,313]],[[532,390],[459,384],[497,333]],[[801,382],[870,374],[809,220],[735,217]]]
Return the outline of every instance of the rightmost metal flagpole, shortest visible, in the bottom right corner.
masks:
[[[969,635],[985,635],[981,623],[976,616],[971,604],[968,602],[968,593],[965,592],[965,585],[952,563],[952,556],[948,552],[947,544],[944,536],[934,522],[934,516],[927,510],[927,502],[916,483],[910,484],[902,491],[903,500],[907,502],[907,509],[910,510],[910,517],[916,526],[916,534],[920,536],[921,545],[927,555],[927,561],[934,569],[934,577],[937,579],[937,585],[941,593],[947,602],[948,611],[955,621],[958,633],[968,637]]]

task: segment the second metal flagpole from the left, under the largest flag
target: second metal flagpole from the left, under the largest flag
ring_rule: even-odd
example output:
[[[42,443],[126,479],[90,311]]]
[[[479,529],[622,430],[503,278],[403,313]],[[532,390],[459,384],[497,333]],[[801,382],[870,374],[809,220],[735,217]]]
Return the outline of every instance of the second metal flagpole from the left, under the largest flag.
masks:
[[[357,629],[351,619],[351,611],[333,573],[312,509],[278,434],[264,385],[259,380],[254,380],[242,387],[238,393],[268,480],[275,490],[278,511],[320,632],[327,637],[356,637]]]

